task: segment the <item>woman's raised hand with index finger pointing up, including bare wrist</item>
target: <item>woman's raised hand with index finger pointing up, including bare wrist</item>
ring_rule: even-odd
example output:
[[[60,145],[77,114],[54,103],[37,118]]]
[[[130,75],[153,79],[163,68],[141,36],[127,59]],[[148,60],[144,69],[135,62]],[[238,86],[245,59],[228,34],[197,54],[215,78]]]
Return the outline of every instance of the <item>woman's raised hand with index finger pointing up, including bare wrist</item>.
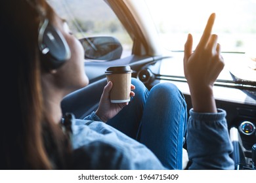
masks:
[[[213,84],[221,73],[224,62],[217,35],[211,35],[215,14],[211,14],[202,38],[192,52],[193,38],[188,34],[184,46],[184,75],[188,81],[192,105],[196,112],[217,112]]]

